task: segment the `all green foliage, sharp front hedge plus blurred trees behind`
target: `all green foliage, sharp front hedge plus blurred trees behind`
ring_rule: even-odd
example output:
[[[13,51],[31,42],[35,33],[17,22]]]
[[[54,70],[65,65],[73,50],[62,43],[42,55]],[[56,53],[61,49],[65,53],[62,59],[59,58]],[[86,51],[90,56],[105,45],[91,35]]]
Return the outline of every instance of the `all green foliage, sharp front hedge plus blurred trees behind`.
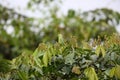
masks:
[[[28,7],[52,2],[31,0]],[[58,11],[39,19],[0,4],[0,80],[119,80],[120,13]]]

